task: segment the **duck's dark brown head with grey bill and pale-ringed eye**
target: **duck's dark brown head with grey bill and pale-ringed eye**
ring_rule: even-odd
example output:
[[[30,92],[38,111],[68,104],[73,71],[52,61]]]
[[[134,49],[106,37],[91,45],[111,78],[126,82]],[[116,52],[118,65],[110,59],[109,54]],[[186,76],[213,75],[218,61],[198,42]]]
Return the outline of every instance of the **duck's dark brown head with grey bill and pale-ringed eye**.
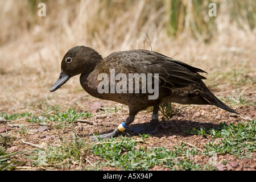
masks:
[[[59,89],[69,78],[90,73],[96,65],[102,61],[102,56],[94,49],[85,46],[76,46],[70,49],[61,61],[61,72],[59,79],[52,85],[50,92]]]

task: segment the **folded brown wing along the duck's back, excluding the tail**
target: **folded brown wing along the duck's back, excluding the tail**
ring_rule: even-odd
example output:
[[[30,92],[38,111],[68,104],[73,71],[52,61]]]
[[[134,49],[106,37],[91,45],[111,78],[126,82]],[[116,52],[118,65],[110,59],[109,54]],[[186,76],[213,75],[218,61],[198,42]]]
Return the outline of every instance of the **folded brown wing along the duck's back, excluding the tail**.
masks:
[[[158,73],[159,86],[172,85],[183,88],[198,80],[206,79],[199,72],[205,71],[192,67],[179,60],[172,59],[160,53],[146,50],[131,50],[114,52],[105,58],[105,66],[101,67],[101,73],[109,73],[115,69],[115,73]]]

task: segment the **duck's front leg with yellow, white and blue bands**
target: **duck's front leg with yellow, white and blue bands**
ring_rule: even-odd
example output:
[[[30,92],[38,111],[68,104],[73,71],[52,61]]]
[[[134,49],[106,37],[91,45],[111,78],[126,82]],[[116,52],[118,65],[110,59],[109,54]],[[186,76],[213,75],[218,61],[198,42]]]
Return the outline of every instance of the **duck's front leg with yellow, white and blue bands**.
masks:
[[[134,115],[129,115],[129,117],[126,118],[125,121],[123,121],[118,127],[114,129],[111,133],[97,135],[97,136],[89,136],[92,137],[92,140],[96,140],[97,138],[109,138],[109,137],[117,137],[118,135],[121,135],[123,131],[125,131],[130,123],[134,121]]]

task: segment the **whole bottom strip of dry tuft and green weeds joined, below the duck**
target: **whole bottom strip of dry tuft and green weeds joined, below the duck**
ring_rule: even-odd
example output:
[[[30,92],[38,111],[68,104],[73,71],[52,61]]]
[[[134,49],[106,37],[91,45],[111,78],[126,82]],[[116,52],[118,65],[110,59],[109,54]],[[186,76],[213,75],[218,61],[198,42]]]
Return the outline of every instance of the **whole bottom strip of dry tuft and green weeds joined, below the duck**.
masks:
[[[214,170],[214,166],[194,163],[189,156],[199,154],[196,148],[180,145],[170,150],[166,147],[147,148],[143,144],[149,135],[141,135],[141,139],[130,137],[110,138],[99,140],[97,143],[88,139],[77,139],[73,135],[71,142],[61,142],[46,149],[36,149],[28,158],[34,160],[34,166],[69,168],[86,163],[88,156],[100,156],[102,160],[83,166],[86,170],[101,169],[101,167],[115,167],[122,170],[147,170],[156,165],[173,170]]]

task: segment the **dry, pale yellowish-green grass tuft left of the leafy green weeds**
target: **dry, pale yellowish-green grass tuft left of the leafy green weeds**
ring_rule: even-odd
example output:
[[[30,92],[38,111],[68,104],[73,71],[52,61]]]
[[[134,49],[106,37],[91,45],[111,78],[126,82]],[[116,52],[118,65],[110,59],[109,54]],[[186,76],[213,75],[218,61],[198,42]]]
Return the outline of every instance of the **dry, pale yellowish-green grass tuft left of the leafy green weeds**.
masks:
[[[27,157],[34,160],[32,162],[34,166],[62,169],[75,166],[77,169],[80,169],[81,166],[85,166],[91,152],[92,143],[90,140],[77,138],[76,134],[73,134],[73,140],[61,139],[54,146],[48,145],[46,148],[37,148]]]

